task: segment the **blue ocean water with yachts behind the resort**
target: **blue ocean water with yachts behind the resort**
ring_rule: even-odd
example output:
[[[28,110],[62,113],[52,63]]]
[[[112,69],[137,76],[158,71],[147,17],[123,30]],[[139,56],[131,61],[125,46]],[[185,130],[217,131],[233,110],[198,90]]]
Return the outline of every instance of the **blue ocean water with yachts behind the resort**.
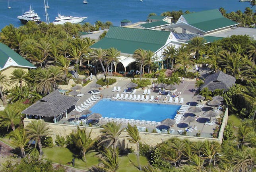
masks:
[[[76,17],[88,18],[85,22],[91,24],[100,20],[111,21],[114,26],[120,26],[122,19],[129,19],[132,23],[145,21],[151,12],[160,15],[164,11],[202,11],[210,9],[225,8],[227,12],[241,10],[248,6],[248,2],[239,0],[87,0],[88,4],[83,4],[83,0],[48,0],[47,9],[50,22],[61,13],[62,15],[72,15]],[[0,29],[13,24],[16,27],[21,25],[17,16],[24,11],[29,11],[29,5],[39,14],[42,21],[45,19],[45,9],[43,0],[9,0],[11,9],[8,9],[8,1],[0,0]]]

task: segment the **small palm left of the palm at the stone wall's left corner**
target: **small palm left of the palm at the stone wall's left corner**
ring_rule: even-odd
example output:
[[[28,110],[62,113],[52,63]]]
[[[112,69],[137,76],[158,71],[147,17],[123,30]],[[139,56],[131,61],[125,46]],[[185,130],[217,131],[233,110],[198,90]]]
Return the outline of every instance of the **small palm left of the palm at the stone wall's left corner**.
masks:
[[[9,139],[12,138],[11,143],[19,148],[21,152],[21,157],[24,158],[26,156],[25,145],[27,145],[27,143],[29,142],[25,130],[15,130],[9,134],[9,137]]]

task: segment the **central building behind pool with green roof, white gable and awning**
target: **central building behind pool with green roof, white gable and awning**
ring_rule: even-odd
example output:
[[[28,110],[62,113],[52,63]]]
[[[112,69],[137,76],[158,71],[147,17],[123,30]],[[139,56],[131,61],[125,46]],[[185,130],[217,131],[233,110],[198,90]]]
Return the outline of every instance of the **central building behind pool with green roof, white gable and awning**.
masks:
[[[121,52],[119,62],[126,67],[135,62],[132,56],[135,50],[141,48],[154,52],[157,61],[162,61],[163,50],[170,45],[178,48],[182,42],[179,42],[172,32],[154,31],[148,29],[134,29],[126,27],[110,27],[106,36],[91,46],[91,48],[109,49],[116,48]]]

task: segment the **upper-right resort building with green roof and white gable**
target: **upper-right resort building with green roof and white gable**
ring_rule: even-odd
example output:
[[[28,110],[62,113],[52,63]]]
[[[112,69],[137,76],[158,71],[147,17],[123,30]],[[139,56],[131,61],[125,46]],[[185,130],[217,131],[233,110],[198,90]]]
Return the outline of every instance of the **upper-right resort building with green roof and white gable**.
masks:
[[[218,9],[188,13],[180,16],[174,25],[165,27],[166,31],[208,35],[225,31],[239,25],[223,17]]]

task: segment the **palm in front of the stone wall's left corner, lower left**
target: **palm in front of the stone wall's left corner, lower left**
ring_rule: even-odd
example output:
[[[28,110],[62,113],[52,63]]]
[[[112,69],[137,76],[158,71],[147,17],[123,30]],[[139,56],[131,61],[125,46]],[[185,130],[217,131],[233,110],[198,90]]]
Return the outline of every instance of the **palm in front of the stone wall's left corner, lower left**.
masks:
[[[44,120],[32,120],[27,124],[26,133],[29,139],[35,141],[35,147],[39,147],[40,155],[43,155],[41,139],[50,134],[50,127],[47,126]]]

